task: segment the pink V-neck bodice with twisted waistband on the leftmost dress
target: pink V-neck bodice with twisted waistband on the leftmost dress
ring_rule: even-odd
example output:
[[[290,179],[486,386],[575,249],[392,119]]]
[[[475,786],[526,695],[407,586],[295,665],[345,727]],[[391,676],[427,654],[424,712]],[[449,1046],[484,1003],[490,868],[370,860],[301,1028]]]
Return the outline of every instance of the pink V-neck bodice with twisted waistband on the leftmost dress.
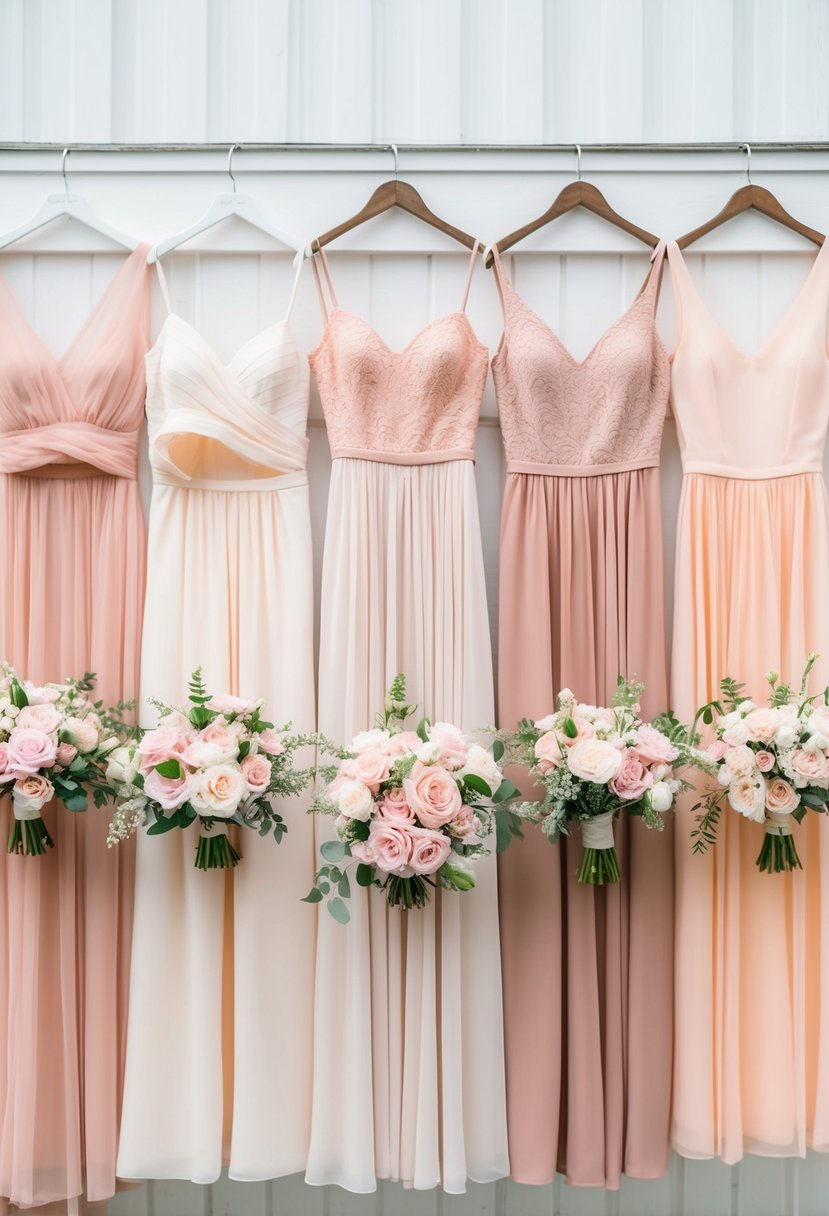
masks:
[[[139,246],[56,359],[0,281],[0,473],[135,478],[148,305]]]

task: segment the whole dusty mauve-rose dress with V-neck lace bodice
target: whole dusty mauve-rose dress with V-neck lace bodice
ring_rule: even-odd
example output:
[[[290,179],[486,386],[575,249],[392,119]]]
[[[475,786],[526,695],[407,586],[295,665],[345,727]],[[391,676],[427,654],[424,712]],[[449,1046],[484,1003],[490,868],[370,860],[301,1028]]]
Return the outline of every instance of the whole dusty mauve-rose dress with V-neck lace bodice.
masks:
[[[607,704],[619,674],[666,702],[659,454],[669,364],[654,323],[665,249],[577,362],[496,252],[492,360],[507,451],[498,716],[538,717],[570,687]],[[671,824],[616,826],[617,885],[576,882],[581,837],[536,828],[500,858],[512,1176],[619,1187],[664,1173],[671,1092]],[[666,837],[669,839],[666,839]]]

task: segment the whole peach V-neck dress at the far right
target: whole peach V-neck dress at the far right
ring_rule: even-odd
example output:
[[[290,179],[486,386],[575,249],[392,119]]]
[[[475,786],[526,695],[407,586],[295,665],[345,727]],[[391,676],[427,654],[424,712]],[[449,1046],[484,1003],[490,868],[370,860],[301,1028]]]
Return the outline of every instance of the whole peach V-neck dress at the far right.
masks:
[[[824,244],[794,305],[749,358],[704,306],[669,246],[679,339],[673,411],[683,461],[673,704],[679,716],[731,675],[767,696],[774,669],[829,682],[829,420]],[[693,801],[693,800],[690,800]],[[677,814],[673,1147],[686,1156],[829,1148],[829,824],[795,826],[802,871],[756,867],[763,828],[729,810],[694,856]]]

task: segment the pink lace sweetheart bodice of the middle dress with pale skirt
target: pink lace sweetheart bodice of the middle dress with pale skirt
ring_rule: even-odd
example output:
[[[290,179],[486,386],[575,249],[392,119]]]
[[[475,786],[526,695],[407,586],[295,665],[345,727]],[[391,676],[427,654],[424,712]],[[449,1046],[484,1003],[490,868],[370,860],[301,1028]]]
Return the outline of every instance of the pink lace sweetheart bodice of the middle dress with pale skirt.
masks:
[[[320,257],[334,308],[328,313],[321,288],[326,330],[309,358],[332,456],[397,465],[474,460],[487,353],[466,311],[438,317],[405,350],[391,350],[367,321],[335,304]],[[321,287],[316,261],[315,272]]]

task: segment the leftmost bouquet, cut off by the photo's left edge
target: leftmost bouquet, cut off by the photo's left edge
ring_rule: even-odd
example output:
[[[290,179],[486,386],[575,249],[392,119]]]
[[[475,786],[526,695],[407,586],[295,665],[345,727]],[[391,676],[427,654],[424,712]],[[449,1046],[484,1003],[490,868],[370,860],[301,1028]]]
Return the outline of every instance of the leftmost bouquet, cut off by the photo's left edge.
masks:
[[[96,806],[112,794],[103,764],[120,724],[89,699],[91,672],[38,686],[5,663],[0,671],[0,796],[11,792],[13,816],[7,851],[36,857],[55,848],[40,814],[46,803],[57,798],[68,811],[85,811],[89,790]]]

